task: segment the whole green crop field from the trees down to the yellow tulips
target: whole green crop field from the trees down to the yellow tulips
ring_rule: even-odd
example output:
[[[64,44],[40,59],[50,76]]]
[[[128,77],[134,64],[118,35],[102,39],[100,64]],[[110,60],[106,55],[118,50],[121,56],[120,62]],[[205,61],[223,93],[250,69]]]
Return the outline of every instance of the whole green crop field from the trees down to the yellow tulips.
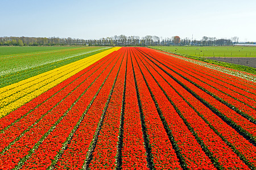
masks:
[[[63,49],[59,46],[36,46],[33,50],[28,48],[31,47],[0,46],[0,52],[8,54],[0,55],[0,88],[109,49],[99,46],[68,46]]]

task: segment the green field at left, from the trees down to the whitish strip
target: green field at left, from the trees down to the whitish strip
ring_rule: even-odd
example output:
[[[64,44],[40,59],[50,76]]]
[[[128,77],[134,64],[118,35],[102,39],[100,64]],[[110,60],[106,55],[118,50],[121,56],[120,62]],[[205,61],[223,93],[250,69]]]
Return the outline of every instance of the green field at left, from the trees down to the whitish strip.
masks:
[[[104,49],[102,47],[64,47],[63,49],[60,49],[59,46],[37,46],[35,48],[32,47],[32,49],[28,50],[31,47],[8,46],[7,48],[0,47],[1,53],[2,48],[4,49],[4,53],[9,53],[9,55],[0,55],[0,59],[2,61],[0,63],[0,75],[10,74],[16,71],[30,69],[32,67],[37,67],[40,65],[46,65],[48,63]],[[30,52],[24,53],[25,51]],[[14,54],[18,52],[19,54]]]

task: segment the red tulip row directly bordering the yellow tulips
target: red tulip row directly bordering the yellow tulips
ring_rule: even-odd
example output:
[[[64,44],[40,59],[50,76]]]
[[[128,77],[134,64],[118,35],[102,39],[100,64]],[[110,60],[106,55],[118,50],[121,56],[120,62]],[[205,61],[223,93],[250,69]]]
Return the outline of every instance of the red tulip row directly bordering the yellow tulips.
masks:
[[[0,121],[0,130],[4,131],[8,128],[10,128],[11,125],[15,124],[19,120],[21,120],[23,117],[27,116],[29,112],[32,112],[35,108],[39,107],[41,104],[45,103],[51,97],[56,95],[60,90],[63,90],[66,86],[71,84],[73,81],[78,79],[81,75],[84,75],[91,69],[98,69],[100,67],[100,64],[108,61],[108,57],[104,57],[100,59],[99,61],[93,63],[92,65],[86,67],[86,69],[80,71],[79,73],[71,76],[67,80],[64,80],[60,84],[57,84],[57,86],[51,88],[50,90],[44,92],[40,96],[32,99],[30,102],[22,105],[22,107],[16,109],[15,111],[7,114],[5,117],[1,118]]]

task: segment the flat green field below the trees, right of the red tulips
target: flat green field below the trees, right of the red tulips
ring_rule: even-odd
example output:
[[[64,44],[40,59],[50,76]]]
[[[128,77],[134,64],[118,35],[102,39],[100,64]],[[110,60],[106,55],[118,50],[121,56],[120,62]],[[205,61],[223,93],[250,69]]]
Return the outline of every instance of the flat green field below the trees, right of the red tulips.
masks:
[[[196,57],[256,57],[256,46],[150,46],[150,48]]]

